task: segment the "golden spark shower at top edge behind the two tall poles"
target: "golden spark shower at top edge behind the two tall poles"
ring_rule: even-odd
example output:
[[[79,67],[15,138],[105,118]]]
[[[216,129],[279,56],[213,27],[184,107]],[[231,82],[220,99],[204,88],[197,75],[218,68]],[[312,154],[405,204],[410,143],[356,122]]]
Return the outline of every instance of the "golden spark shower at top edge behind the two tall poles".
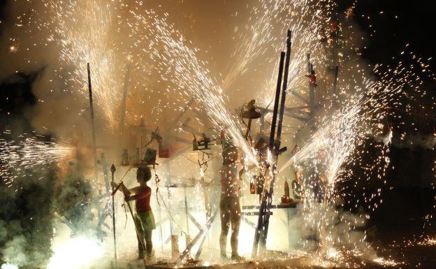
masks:
[[[247,31],[241,30],[240,43],[232,54],[232,65],[224,78],[224,92],[227,93],[231,84],[248,70],[252,61],[264,57],[267,61],[262,61],[261,67],[265,69],[268,64],[266,70],[270,70],[271,75],[266,85],[256,92],[256,100],[263,106],[273,100],[278,71],[276,52],[284,49],[286,29],[292,30],[288,91],[300,92],[306,81],[307,53],[311,53],[317,68],[325,67],[326,56],[320,49],[319,39],[321,29],[329,23],[334,6],[331,0],[259,1],[255,4],[248,19],[251,26]],[[268,47],[273,47],[273,53],[268,51]]]

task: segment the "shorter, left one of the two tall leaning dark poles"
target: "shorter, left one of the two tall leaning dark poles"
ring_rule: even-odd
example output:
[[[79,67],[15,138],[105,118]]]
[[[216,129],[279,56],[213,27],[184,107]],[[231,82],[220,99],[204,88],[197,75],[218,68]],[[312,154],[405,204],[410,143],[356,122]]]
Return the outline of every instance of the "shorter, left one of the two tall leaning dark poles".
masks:
[[[273,150],[274,147],[274,136],[275,136],[275,124],[277,123],[277,110],[279,110],[279,98],[280,98],[280,89],[282,86],[282,75],[283,75],[283,66],[284,66],[284,56],[285,53],[280,53],[280,64],[279,64],[279,74],[277,78],[277,88],[275,90],[275,102],[274,102],[274,110],[273,110],[273,122],[271,124],[270,131],[270,151]],[[254,258],[257,255],[257,249],[259,247],[259,239],[261,235],[261,231],[263,231],[263,219],[266,214],[266,201],[261,199],[261,206],[259,208],[259,218],[257,219],[256,232],[254,233],[254,242],[252,248],[252,257]]]

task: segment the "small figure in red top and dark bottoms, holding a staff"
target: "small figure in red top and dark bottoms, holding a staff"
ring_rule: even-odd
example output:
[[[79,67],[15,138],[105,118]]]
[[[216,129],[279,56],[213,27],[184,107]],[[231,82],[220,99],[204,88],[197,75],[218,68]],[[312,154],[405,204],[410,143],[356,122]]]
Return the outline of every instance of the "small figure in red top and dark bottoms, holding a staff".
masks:
[[[147,182],[152,178],[150,168],[138,168],[136,171],[136,180],[139,183],[138,187],[129,189],[126,196],[126,201],[135,201],[135,221],[138,224],[138,233],[145,239],[145,248],[147,250],[147,257],[152,257],[153,242],[152,231],[156,228],[152,208],[150,207],[150,198],[152,196],[152,189],[147,186]],[[131,195],[133,193],[133,195]],[[145,258],[145,249],[141,244],[141,238],[138,237],[138,252],[139,259]]]

